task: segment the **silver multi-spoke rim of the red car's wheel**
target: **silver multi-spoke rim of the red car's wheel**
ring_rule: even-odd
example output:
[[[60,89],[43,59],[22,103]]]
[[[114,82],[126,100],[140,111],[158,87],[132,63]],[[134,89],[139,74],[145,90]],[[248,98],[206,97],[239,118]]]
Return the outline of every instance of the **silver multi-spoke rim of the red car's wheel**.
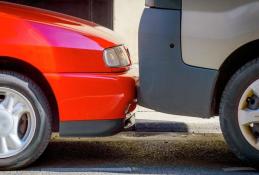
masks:
[[[0,158],[25,150],[35,129],[36,116],[29,100],[13,89],[0,87]]]

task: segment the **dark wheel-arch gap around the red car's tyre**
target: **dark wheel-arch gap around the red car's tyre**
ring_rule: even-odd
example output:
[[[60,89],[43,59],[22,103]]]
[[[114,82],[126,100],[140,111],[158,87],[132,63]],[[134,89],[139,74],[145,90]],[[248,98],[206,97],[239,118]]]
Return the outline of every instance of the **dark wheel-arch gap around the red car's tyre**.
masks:
[[[48,97],[48,101],[51,104],[51,112],[53,114],[52,119],[52,130],[57,132],[59,130],[59,113],[58,113],[58,105],[55,95],[50,87],[46,78],[42,75],[42,73],[32,65],[20,61],[15,58],[10,57],[1,57],[0,56],[0,69],[14,71],[20,74],[27,76],[32,79],[35,83],[39,85],[40,88],[44,88],[43,93]]]

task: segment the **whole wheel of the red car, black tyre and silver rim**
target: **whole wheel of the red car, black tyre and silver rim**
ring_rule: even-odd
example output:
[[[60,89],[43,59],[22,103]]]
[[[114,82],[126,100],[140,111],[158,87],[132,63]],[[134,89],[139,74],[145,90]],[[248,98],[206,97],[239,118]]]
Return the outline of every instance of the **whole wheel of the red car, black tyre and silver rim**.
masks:
[[[4,135],[3,137],[5,137],[4,139],[6,140],[2,140],[0,144],[9,144],[8,146],[10,146],[11,149],[7,146],[8,149],[2,149],[2,154],[0,152],[0,170],[21,169],[37,160],[49,143],[51,136],[51,111],[49,103],[36,83],[18,73],[0,71],[0,93],[1,91],[6,91],[4,93],[11,95],[9,95],[10,98],[8,102],[4,102],[7,101],[5,99],[8,95],[3,97],[4,99],[0,102],[0,106],[1,103],[3,103],[3,106],[4,103],[9,105],[9,103],[11,103],[10,99],[12,98],[17,100],[16,106],[14,105],[15,103],[11,103],[13,107],[10,107],[10,110],[14,112],[10,113],[12,113],[13,116],[19,116],[19,119],[14,120],[18,121],[16,122],[18,123],[18,129],[13,129],[15,128],[13,124],[12,127],[10,125],[10,130],[13,130],[13,132],[17,130],[16,133],[20,142],[14,144],[15,142],[13,140],[10,141],[10,137],[6,136],[7,134],[4,133],[5,130],[2,129],[2,136]],[[0,107],[0,117],[2,115],[1,110]],[[2,118],[3,117],[5,117],[5,113],[2,115]],[[20,128],[20,125],[23,126],[23,129]],[[23,142],[21,141],[22,139],[24,139]],[[23,146],[21,146],[22,144]]]

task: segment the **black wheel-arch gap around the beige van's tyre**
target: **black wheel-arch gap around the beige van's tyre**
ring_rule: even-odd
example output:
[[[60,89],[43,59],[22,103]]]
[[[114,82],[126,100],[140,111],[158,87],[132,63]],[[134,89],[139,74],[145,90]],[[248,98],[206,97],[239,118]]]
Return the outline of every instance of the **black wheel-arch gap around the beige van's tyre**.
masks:
[[[222,93],[232,75],[249,61],[259,57],[259,40],[247,43],[235,50],[222,64],[214,91],[214,114],[219,114]]]

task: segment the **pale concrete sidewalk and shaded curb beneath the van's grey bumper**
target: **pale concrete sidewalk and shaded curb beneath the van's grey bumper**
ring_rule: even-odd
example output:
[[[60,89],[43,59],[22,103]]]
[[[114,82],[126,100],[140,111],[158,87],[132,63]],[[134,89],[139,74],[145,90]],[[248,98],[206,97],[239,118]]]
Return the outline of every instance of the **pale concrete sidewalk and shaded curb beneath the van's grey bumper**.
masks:
[[[143,107],[138,107],[136,109],[136,131],[221,133],[218,117],[202,119],[169,115]]]

